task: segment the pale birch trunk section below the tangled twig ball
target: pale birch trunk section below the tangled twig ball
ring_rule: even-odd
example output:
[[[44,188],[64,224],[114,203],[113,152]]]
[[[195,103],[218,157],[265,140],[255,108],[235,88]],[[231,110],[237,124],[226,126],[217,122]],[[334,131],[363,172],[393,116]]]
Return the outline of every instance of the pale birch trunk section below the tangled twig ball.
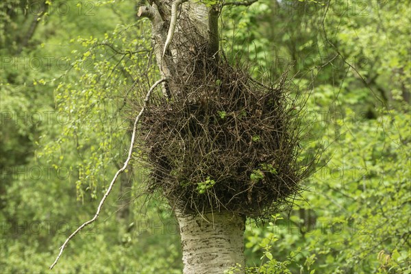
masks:
[[[224,273],[245,265],[245,217],[229,212],[192,215],[175,210],[182,242],[184,273]]]

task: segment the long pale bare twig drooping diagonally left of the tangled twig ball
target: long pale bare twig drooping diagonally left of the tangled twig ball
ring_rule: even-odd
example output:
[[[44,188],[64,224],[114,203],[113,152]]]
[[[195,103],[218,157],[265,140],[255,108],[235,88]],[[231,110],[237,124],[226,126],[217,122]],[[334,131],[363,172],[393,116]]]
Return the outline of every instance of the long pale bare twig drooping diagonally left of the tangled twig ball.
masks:
[[[57,258],[55,258],[55,261],[53,262],[53,264],[51,264],[50,269],[53,269],[53,267],[55,266],[55,264],[57,264],[58,260],[60,259],[60,256],[62,256],[62,253],[64,251],[64,248],[66,248],[66,245],[69,243],[69,241],[77,234],[80,232],[80,230],[82,230],[84,227],[86,227],[87,225],[90,225],[90,223],[93,223],[94,221],[97,220],[97,218],[99,217],[99,214],[101,212],[101,208],[103,208],[103,204],[105,202],[105,199],[107,199],[108,195],[110,195],[110,192],[114,186],[114,183],[116,182],[117,177],[119,177],[119,175],[121,173],[123,173],[125,171],[125,169],[127,169],[127,166],[129,164],[129,161],[132,159],[132,153],[133,153],[133,147],[134,147],[134,140],[136,138],[136,131],[137,131],[137,125],[138,125],[138,121],[140,121],[140,118],[143,114],[143,112],[145,111],[145,109],[147,108],[147,103],[149,102],[150,96],[151,96],[151,92],[153,92],[154,88],[156,86],[158,86],[158,84],[161,84],[162,82],[166,81],[166,79],[160,79],[157,82],[155,82],[153,84],[153,86],[151,86],[151,88],[149,89],[149,92],[147,92],[147,96],[144,99],[144,104],[142,105],[142,108],[140,110],[140,113],[137,115],[136,117],[136,121],[134,121],[134,128],[133,128],[133,134],[132,134],[132,141],[130,143],[130,148],[129,148],[129,153],[128,153],[128,157],[127,160],[125,160],[125,163],[123,165],[123,167],[121,169],[119,169],[119,171],[116,172],[116,175],[114,175],[112,182],[110,183],[110,186],[108,187],[107,191],[105,192],[103,198],[100,201],[99,207],[97,208],[97,212],[95,214],[94,217],[92,217],[92,219],[86,221],[86,223],[83,223],[81,226],[79,226],[75,232],[73,232],[69,238],[66,239],[66,241],[64,242],[64,244],[60,247],[60,253],[58,253]]]

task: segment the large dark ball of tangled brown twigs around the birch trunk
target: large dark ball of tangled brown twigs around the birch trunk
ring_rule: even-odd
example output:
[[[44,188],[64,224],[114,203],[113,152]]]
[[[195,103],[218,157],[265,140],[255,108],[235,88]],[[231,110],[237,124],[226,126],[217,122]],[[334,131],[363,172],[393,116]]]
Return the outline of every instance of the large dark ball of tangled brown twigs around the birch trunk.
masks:
[[[258,84],[226,60],[192,56],[172,97],[153,95],[138,146],[160,190],[185,212],[228,210],[262,216],[299,191],[301,111],[286,74]]]

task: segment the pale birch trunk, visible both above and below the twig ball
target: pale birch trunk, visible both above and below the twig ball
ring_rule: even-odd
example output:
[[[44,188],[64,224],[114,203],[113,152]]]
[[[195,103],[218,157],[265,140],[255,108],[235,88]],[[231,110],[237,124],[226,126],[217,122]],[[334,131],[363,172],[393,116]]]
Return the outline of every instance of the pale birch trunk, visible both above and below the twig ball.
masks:
[[[201,1],[152,0],[140,7],[138,16],[152,25],[153,51],[160,74],[167,82],[163,94],[176,94],[176,75],[190,74],[190,52],[203,49],[210,60],[219,51],[218,7]],[[212,69],[212,66],[211,66]],[[173,203],[173,201],[171,201]],[[224,273],[245,264],[243,234],[245,217],[229,212],[183,214],[175,210],[181,234],[184,273]]]

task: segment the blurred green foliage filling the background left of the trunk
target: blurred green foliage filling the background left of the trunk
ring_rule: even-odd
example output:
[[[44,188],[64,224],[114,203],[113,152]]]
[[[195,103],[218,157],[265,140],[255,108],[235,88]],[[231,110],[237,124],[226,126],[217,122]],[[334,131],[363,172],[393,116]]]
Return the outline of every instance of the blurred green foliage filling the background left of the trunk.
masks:
[[[66,236],[95,214],[129,145],[125,102],[140,97],[133,84],[145,88],[150,37],[132,1],[47,1],[19,52],[42,2],[0,5],[1,273],[47,272]],[[56,271],[180,272],[173,216],[137,196],[141,167],[128,171],[106,217],[73,239]]]

